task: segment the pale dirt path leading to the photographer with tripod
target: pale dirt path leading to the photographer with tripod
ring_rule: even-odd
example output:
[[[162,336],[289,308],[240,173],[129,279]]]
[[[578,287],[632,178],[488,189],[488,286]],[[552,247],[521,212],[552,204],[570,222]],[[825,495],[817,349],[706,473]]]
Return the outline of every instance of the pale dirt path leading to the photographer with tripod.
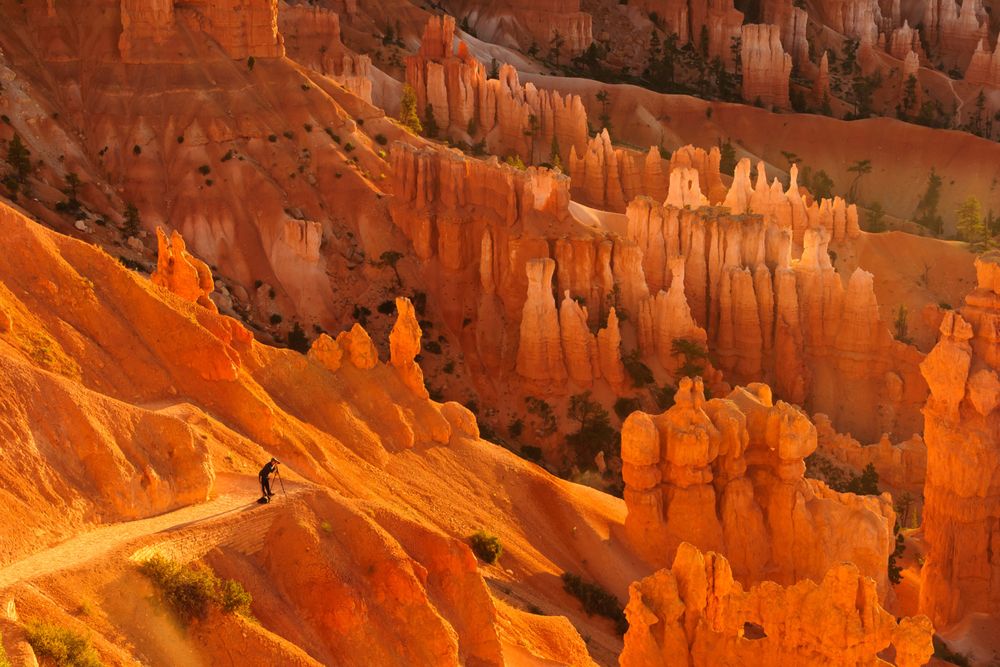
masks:
[[[306,485],[285,482],[289,498],[297,496],[309,488]],[[284,500],[280,485],[275,484],[273,490],[278,492],[276,503]],[[219,531],[217,537],[221,542],[229,542],[232,546],[242,546],[250,550],[263,540],[263,533],[270,526],[270,520],[261,521],[265,517],[273,518],[273,512],[267,512],[268,505],[258,505],[260,487],[252,477],[224,475],[216,480],[216,493],[212,500],[198,505],[188,505],[179,510],[139,519],[125,523],[109,524],[96,530],[78,535],[50,549],[39,551],[19,561],[0,568],[0,591],[14,584],[43,577],[45,575],[76,568],[86,563],[103,558],[131,542],[143,542],[147,546],[140,551],[150,549],[148,543],[157,542],[151,537],[161,538],[166,543],[187,543],[186,552],[207,551],[198,549],[191,537],[201,531],[187,530],[194,527],[205,527],[206,524],[235,524],[234,530]],[[256,511],[255,511],[256,510]],[[233,522],[246,515],[246,520]],[[248,524],[258,525],[258,530],[246,532]],[[244,530],[235,530],[241,527]],[[249,541],[247,538],[249,535]],[[185,539],[187,538],[187,539]],[[198,540],[206,547],[215,546],[214,540]],[[139,546],[139,545],[136,545]],[[138,552],[137,552],[138,553]],[[201,554],[197,554],[201,555]]]

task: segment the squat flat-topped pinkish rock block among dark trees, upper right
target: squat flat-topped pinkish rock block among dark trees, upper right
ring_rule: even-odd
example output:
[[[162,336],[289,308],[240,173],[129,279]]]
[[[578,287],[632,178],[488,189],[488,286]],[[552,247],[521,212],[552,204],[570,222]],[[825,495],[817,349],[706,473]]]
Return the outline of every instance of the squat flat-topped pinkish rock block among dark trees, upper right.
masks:
[[[781,46],[781,29],[770,24],[745,25],[742,40],[743,99],[767,107],[789,108],[792,57]]]

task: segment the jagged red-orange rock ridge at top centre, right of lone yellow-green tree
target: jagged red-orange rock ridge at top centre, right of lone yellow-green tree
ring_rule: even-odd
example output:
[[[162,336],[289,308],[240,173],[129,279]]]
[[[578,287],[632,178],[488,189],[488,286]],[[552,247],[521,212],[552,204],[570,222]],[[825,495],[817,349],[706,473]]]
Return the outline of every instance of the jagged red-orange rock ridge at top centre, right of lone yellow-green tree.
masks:
[[[406,59],[406,82],[416,91],[425,121],[430,109],[445,135],[469,144],[481,141],[489,153],[519,155],[533,164],[550,162],[553,149],[563,164],[571,149],[583,153],[587,112],[579,96],[522,86],[506,64],[499,78],[487,79],[464,42],[452,50],[454,33],[454,18],[431,17],[420,50]]]

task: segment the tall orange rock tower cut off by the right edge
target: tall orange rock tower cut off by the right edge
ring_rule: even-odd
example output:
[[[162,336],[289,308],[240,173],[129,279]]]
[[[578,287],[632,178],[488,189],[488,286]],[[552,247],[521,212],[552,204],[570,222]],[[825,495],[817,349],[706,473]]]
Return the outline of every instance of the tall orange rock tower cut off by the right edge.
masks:
[[[948,311],[920,366],[924,408],[926,561],[920,609],[940,627],[1000,613],[1000,253],[976,260],[978,287]]]

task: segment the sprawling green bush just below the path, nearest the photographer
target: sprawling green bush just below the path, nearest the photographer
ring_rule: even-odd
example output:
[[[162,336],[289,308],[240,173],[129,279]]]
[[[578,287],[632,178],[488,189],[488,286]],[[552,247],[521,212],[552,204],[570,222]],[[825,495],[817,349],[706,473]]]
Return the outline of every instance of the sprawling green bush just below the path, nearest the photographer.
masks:
[[[167,606],[184,623],[204,618],[212,605],[227,613],[250,615],[250,593],[238,581],[220,579],[203,565],[182,565],[153,556],[139,571],[156,585]]]

